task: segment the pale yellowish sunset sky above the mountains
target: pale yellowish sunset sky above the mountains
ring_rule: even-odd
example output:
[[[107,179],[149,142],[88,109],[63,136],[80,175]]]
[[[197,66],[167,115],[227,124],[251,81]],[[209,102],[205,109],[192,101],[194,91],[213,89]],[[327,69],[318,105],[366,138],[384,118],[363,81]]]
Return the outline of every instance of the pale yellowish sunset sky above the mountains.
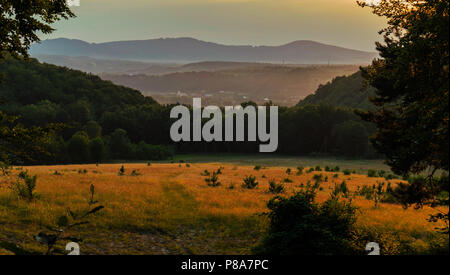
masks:
[[[356,0],[80,0],[47,38],[87,42],[192,37],[226,45],[314,40],[374,51],[385,20]]]

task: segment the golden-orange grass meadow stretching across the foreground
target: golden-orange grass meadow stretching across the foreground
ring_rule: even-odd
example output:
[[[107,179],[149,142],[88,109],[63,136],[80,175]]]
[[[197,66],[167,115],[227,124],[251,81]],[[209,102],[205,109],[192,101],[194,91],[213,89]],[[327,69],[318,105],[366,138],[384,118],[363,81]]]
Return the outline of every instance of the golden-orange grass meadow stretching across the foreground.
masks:
[[[281,182],[290,178],[293,182],[284,184],[287,196],[314,174],[322,173],[328,176],[328,182],[321,183],[318,201],[328,198],[334,184],[343,180],[351,191],[386,181],[343,173],[334,178],[334,172],[296,175],[294,167],[292,174],[287,175],[286,167],[256,171],[254,166],[223,163],[125,164],[124,176],[118,175],[120,167],[121,164],[100,164],[14,168],[10,178],[19,169],[38,176],[38,198],[32,202],[20,200],[6,183],[0,185],[0,242],[45,251],[33,235],[45,230],[46,225],[54,225],[68,207],[85,209],[89,187],[94,184],[96,199],[105,209],[92,217],[89,225],[74,230],[74,235],[83,238],[82,254],[249,254],[267,229],[267,219],[260,214],[267,211],[266,203],[274,196],[268,193],[270,179]],[[219,167],[224,167],[219,176],[222,185],[207,186],[201,173]],[[80,169],[86,173],[79,173]],[[133,170],[140,175],[131,176]],[[60,175],[55,175],[55,171]],[[258,188],[241,188],[247,175],[257,177]],[[3,182],[6,181],[5,178]],[[421,252],[429,249],[430,243],[443,241],[434,233],[436,224],[426,221],[436,209],[405,210],[394,204],[375,208],[372,201],[363,197],[356,197],[354,203],[359,208],[358,230],[370,232],[376,239],[367,241],[381,243],[385,254],[398,253],[405,242]],[[361,240],[361,245],[363,241],[366,240]],[[5,253],[8,252],[0,249],[0,254]]]

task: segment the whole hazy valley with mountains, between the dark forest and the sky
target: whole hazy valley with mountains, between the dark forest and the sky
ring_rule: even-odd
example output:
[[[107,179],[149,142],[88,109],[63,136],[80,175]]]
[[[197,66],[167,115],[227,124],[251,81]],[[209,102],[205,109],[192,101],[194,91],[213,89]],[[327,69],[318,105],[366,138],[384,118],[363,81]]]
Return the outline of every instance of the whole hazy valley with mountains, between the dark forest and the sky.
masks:
[[[272,101],[293,106],[319,85],[350,75],[376,54],[296,41],[273,46],[225,46],[192,38],[110,43],[54,39],[33,45],[41,62],[99,75],[163,104],[229,105]]]

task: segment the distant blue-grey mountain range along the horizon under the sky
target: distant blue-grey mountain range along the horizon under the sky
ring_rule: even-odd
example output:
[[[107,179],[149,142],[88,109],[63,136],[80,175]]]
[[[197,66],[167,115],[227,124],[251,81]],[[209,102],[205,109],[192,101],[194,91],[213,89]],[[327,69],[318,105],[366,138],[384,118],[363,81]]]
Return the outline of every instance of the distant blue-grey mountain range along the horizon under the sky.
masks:
[[[88,43],[58,38],[32,45],[37,55],[85,56],[146,62],[189,63],[202,61],[267,62],[293,64],[367,64],[376,53],[295,41],[281,46],[228,46],[193,38]]]

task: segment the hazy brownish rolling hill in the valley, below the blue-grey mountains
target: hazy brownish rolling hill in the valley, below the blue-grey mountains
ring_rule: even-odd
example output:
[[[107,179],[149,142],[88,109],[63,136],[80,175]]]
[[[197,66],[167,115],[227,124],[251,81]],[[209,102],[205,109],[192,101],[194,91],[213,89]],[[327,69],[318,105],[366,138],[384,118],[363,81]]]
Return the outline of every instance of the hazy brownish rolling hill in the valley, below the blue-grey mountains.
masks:
[[[356,65],[279,66],[249,65],[232,69],[195,71],[205,64],[190,64],[164,75],[100,74],[105,80],[127,86],[150,95],[160,103],[192,103],[192,97],[202,97],[208,104],[234,105],[252,100],[264,103],[272,100],[282,106],[293,106],[338,75],[351,75]],[[231,66],[230,64],[225,64]],[[226,66],[221,66],[225,68]],[[219,64],[210,64],[210,69]]]

